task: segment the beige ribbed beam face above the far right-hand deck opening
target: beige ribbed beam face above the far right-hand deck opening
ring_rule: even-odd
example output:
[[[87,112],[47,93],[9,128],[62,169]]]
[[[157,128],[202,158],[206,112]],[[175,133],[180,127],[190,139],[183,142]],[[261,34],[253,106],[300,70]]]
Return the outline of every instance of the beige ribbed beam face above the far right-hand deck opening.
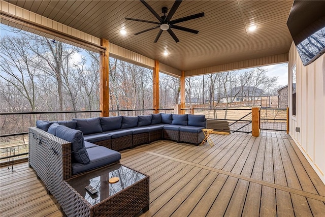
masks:
[[[283,53],[283,54],[267,56],[262,58],[248,59],[236,63],[223,64],[223,65],[212,66],[212,67],[196,69],[196,70],[189,70],[185,72],[185,76],[196,76],[196,75],[203,75],[203,74],[209,74],[215,72],[247,69],[247,68],[258,67],[258,66],[286,63],[287,61],[288,61],[288,54]]]

